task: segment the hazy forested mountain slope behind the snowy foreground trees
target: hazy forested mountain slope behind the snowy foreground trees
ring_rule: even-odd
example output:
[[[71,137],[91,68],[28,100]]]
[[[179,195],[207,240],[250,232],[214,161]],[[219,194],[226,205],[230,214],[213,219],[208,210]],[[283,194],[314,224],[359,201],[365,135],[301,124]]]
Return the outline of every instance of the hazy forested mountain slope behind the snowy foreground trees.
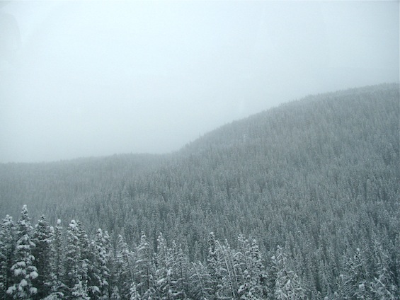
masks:
[[[52,206],[46,191],[54,181],[46,176],[68,170],[62,180],[69,183],[84,163],[76,169],[47,165],[50,171],[40,173],[46,179],[32,191],[31,185],[13,190],[13,182],[43,165],[21,166],[13,178],[6,175],[13,166],[1,166],[7,178],[1,180],[1,203],[10,203],[6,195],[42,197],[30,203],[36,214],[45,212],[52,221],[81,219],[88,229],[122,233],[128,243],[144,231],[154,249],[162,231],[186,245],[192,260],[205,258],[210,231],[232,246],[244,233],[259,241],[266,257],[283,246],[313,296],[335,290],[348,258],[357,248],[372,253],[376,243],[389,253],[395,280],[400,278],[394,265],[400,261],[398,84],[281,105],[151,159],[152,168],[134,174],[124,163],[132,157],[121,159],[121,172],[103,173],[79,201],[72,201],[74,188],[68,188]],[[118,166],[113,158],[104,160]],[[365,267],[373,274],[377,266],[368,259]]]

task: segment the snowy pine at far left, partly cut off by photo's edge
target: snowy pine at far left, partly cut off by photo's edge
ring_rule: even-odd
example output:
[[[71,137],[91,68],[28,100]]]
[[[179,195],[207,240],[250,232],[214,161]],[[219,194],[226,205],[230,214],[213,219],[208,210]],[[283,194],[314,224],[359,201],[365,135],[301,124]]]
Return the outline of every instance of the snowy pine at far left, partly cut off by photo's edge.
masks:
[[[13,218],[6,215],[0,229],[0,299],[11,299],[6,293],[13,284],[11,267],[16,248],[16,226]]]

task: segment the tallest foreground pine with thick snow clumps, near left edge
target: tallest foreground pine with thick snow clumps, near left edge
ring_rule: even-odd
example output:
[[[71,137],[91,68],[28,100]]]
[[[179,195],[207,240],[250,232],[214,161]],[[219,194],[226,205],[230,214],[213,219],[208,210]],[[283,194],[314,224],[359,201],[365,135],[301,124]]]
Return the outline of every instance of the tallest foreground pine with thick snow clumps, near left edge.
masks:
[[[28,217],[28,209],[23,205],[21,217],[17,223],[17,242],[14,252],[14,264],[11,267],[14,284],[8,287],[7,293],[13,299],[33,299],[38,289],[33,286],[33,279],[38,277],[38,270],[33,265],[35,257],[32,250],[35,243],[31,240],[32,226]]]

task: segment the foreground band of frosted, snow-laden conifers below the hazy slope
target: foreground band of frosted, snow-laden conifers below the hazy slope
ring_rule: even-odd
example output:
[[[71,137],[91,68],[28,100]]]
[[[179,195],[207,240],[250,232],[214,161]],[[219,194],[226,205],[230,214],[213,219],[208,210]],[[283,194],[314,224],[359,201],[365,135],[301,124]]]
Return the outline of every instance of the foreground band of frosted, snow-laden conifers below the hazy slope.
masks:
[[[33,227],[24,205],[16,223],[7,215],[1,224],[0,298],[308,298],[284,248],[264,258],[256,240],[243,234],[237,245],[232,248],[211,232],[205,260],[190,261],[187,245],[168,243],[162,233],[154,250],[144,233],[129,247],[122,235],[113,238],[101,229],[89,239],[75,220],[64,230],[60,220],[50,226],[42,216]],[[346,257],[331,299],[398,299],[389,253],[377,241],[372,249]],[[375,263],[372,273],[367,258]]]

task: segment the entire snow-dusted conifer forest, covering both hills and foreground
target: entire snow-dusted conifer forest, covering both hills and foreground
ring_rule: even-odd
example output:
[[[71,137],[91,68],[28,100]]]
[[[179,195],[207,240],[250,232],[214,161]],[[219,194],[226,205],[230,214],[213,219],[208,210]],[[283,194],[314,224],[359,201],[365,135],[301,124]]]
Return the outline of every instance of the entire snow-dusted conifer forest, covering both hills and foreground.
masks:
[[[399,299],[399,106],[353,88],[172,154],[1,164],[0,298]]]

